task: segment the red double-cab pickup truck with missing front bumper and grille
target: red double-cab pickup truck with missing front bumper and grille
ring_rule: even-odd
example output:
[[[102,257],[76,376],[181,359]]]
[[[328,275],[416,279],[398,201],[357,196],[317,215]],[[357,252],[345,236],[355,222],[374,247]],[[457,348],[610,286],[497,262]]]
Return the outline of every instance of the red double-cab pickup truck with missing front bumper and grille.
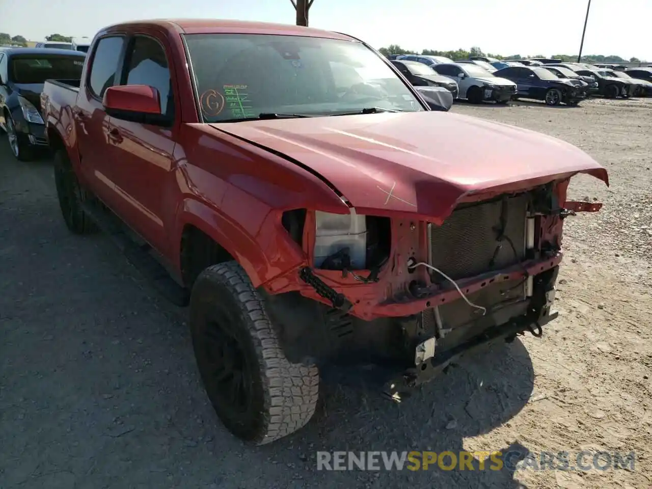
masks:
[[[108,232],[179,304],[228,429],[267,443],[318,368],[374,363],[400,400],[554,319],[577,173],[563,141],[447,111],[347,35],[216,20],[102,30],[42,93],[63,218]],[[391,367],[391,368],[389,368]]]

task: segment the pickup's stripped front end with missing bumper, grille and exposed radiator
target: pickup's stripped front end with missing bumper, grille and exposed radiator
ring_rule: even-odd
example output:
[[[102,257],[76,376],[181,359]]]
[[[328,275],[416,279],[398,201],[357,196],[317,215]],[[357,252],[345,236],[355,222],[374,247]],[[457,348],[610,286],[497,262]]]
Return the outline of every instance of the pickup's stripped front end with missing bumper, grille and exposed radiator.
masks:
[[[286,212],[306,261],[264,289],[289,361],[391,365],[383,393],[400,400],[477,346],[541,336],[563,220],[600,208],[567,202],[568,184],[467,197],[441,224]]]

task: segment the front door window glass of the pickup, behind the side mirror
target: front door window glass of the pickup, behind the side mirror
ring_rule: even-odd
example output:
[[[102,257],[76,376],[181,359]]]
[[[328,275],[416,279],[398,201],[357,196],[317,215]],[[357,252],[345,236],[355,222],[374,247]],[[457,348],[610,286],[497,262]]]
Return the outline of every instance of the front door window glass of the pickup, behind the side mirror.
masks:
[[[170,115],[174,104],[170,68],[165,50],[151,37],[136,36],[127,52],[126,85],[149,85],[158,90],[162,115]]]

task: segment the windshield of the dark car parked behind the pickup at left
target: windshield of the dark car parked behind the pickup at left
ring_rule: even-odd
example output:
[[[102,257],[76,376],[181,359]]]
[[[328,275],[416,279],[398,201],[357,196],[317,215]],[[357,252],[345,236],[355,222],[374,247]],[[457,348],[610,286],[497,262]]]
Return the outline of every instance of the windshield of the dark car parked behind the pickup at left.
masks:
[[[14,55],[9,61],[9,80],[14,83],[44,83],[48,78],[80,80],[83,56]]]

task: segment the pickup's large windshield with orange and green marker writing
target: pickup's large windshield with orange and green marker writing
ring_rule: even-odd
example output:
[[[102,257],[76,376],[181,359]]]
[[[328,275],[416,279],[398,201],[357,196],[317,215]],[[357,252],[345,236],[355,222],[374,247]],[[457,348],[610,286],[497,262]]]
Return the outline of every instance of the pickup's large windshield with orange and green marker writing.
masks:
[[[206,122],[261,113],[335,115],[425,110],[361,42],[262,34],[186,35]]]

